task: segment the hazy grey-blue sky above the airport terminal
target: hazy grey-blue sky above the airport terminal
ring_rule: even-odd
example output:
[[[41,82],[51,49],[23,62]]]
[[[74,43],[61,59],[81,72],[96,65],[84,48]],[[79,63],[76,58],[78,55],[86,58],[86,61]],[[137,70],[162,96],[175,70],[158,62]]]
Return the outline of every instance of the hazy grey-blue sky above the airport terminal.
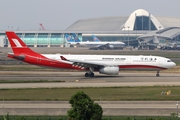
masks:
[[[129,16],[144,9],[180,18],[180,0],[0,0],[0,30],[65,30],[79,19]]]

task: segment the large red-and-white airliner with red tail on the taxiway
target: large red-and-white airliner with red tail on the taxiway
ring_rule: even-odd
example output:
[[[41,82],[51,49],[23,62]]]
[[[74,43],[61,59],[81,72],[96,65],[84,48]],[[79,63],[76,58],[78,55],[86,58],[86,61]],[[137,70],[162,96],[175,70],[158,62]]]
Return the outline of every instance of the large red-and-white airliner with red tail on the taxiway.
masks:
[[[152,70],[157,71],[156,76],[159,77],[159,71],[176,65],[170,59],[159,56],[39,54],[14,32],[7,31],[6,35],[13,50],[8,57],[34,65],[84,70],[87,71],[85,77],[94,77],[94,71],[117,75],[120,70]]]

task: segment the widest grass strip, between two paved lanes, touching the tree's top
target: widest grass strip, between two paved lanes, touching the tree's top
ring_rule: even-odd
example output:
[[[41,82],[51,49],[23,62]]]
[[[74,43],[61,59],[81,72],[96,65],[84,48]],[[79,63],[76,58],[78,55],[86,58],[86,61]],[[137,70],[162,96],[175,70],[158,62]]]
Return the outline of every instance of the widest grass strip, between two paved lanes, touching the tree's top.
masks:
[[[171,90],[170,95],[161,95],[162,91],[168,90]],[[96,101],[169,101],[180,98],[179,86],[0,89],[0,96],[6,101],[67,101],[78,91],[84,91]]]

